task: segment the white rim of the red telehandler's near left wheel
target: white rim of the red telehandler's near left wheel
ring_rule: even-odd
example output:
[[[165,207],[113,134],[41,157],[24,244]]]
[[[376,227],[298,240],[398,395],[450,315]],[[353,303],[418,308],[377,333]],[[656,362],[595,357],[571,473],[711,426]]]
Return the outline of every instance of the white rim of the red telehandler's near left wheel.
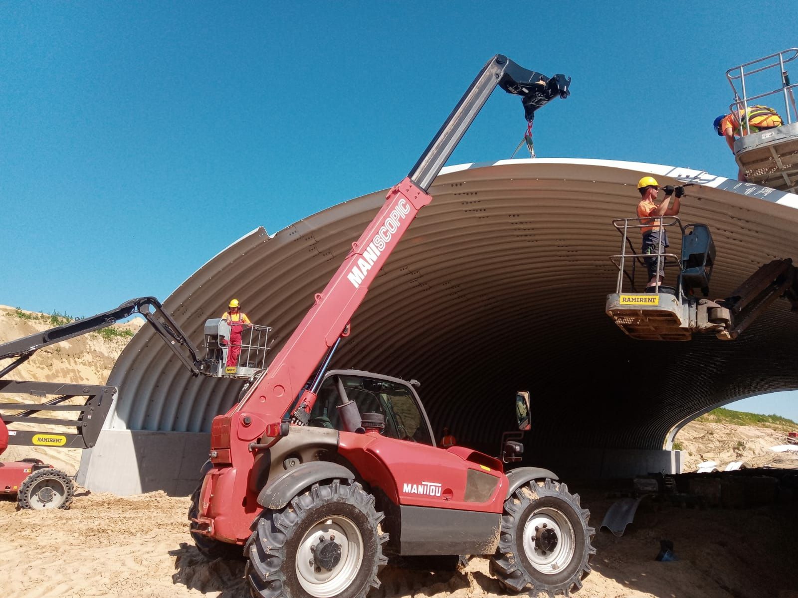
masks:
[[[332,539],[341,547],[338,565],[331,569],[320,567],[314,561],[314,550],[310,549],[322,541],[322,536],[328,541]],[[340,594],[358,576],[363,552],[363,537],[358,526],[349,517],[326,517],[313,525],[299,542],[296,557],[299,584],[310,596],[316,598],[330,598]]]

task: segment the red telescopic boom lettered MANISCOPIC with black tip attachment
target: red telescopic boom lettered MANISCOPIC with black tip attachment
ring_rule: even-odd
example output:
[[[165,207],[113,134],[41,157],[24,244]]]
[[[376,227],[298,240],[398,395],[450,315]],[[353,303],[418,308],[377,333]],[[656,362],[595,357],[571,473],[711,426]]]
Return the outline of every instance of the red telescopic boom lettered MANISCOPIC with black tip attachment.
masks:
[[[251,388],[238,406],[233,407],[227,415],[215,419],[213,429],[227,430],[229,435],[231,427],[235,427],[231,416],[245,407],[247,411],[262,415],[266,422],[275,423],[276,420],[277,423],[285,423],[283,416],[292,403],[298,404],[294,416],[300,423],[306,422],[318,390],[318,387],[314,388],[317,386],[315,382],[310,381],[311,376],[316,372],[315,380],[321,380],[322,376],[318,374],[323,372],[319,364],[329,362],[331,353],[363,301],[369,285],[418,211],[432,201],[426,191],[496,86],[521,96],[524,115],[531,120],[535,110],[549,100],[556,96],[567,97],[570,83],[570,77],[545,77],[523,69],[501,55],[488,61],[413,170],[389,191],[385,205],[361,237],[352,243],[346,259],[326,288],[315,296],[314,305],[272,360],[267,374]],[[412,317],[412,308],[407,306],[405,309],[407,317]],[[300,393],[302,396],[298,398]],[[272,435],[274,429],[270,428],[267,432],[266,436]]]

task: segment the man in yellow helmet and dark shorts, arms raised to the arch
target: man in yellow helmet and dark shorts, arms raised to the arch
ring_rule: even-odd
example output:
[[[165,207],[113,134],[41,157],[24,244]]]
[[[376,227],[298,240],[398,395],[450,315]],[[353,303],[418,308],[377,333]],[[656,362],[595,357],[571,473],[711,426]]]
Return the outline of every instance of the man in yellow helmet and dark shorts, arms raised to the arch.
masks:
[[[643,234],[642,253],[646,254],[643,261],[646,262],[649,281],[646,285],[646,292],[654,292],[656,285],[662,285],[665,279],[665,256],[659,260],[657,268],[657,254],[665,253],[668,246],[668,235],[662,227],[662,219],[658,216],[675,216],[679,213],[681,197],[685,195],[684,187],[672,187],[667,185],[664,189],[665,198],[662,203],[657,205],[656,200],[659,195],[659,183],[653,176],[644,176],[638,181],[638,191],[640,191],[640,203],[638,203],[638,220],[642,224]],[[670,196],[676,194],[674,205],[670,205]]]

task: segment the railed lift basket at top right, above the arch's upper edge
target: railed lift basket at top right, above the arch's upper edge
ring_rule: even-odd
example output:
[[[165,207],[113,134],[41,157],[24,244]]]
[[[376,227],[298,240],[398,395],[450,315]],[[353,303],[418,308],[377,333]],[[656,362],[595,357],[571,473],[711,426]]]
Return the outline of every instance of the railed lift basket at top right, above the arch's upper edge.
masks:
[[[784,124],[752,132],[748,120],[743,119],[742,136],[734,142],[733,151],[737,165],[749,183],[792,193],[798,193],[798,111],[794,93],[798,84],[790,83],[785,65],[796,58],[798,48],[790,48],[726,71],[726,78],[734,92],[734,101],[729,105],[730,112],[747,114],[749,106],[766,101],[764,98],[783,100],[784,113],[780,116]],[[762,93],[752,93],[751,77],[765,72],[772,75],[776,73],[775,69],[780,75],[780,85]],[[739,90],[736,84],[740,85]],[[766,88],[771,86],[760,85]]]

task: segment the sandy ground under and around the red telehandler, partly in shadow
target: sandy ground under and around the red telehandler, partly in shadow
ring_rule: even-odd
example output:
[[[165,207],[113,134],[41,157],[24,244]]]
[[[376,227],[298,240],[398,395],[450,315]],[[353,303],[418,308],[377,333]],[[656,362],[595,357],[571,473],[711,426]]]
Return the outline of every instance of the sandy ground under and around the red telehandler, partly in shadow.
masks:
[[[598,526],[612,499],[585,502]],[[645,504],[645,503],[643,503]],[[795,504],[699,511],[663,505],[638,513],[622,537],[595,538],[594,571],[579,598],[798,598]],[[208,596],[244,598],[243,564],[208,562],[188,535],[188,498],[156,492],[130,498],[80,491],[68,511],[18,511],[0,501],[4,598]],[[654,557],[674,541],[678,561]],[[474,557],[456,572],[389,565],[369,598],[504,596]]]

